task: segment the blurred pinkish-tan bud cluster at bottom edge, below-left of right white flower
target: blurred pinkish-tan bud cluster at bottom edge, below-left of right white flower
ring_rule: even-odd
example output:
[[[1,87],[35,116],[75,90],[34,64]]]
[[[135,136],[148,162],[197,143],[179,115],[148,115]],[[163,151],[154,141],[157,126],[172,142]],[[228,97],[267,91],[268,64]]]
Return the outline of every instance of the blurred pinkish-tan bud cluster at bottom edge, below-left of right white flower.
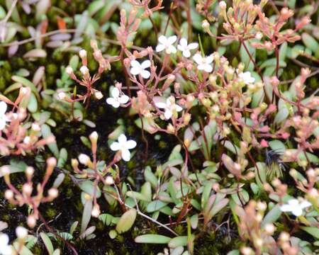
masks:
[[[272,223],[262,225],[264,214],[267,210],[267,204],[263,202],[256,202],[250,200],[250,203],[245,208],[237,205],[236,213],[240,219],[239,231],[240,237],[244,241],[251,242],[249,246],[244,246],[240,249],[242,254],[262,254],[262,252],[269,252],[269,254],[276,254],[276,242],[272,235],[276,227]]]

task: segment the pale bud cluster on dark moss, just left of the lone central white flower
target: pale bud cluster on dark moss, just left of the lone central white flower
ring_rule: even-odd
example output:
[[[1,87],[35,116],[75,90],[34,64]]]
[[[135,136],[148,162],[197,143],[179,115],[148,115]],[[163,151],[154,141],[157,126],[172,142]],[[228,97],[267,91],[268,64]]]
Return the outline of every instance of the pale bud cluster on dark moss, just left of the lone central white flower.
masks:
[[[97,203],[97,189],[99,183],[103,183],[104,186],[111,186],[114,183],[114,179],[111,175],[110,169],[115,162],[113,161],[110,165],[106,166],[105,163],[101,165],[101,162],[98,162],[96,159],[96,151],[97,151],[97,141],[99,135],[96,131],[92,132],[89,135],[89,140],[91,141],[91,152],[93,155],[93,160],[86,155],[86,154],[79,154],[78,159],[72,159],[71,164],[74,172],[77,174],[75,177],[78,179],[87,179],[94,181],[94,191],[93,197],[88,197],[89,195],[86,194],[87,199],[93,200],[94,206],[91,210],[91,215],[93,217],[99,217],[101,211],[99,209],[99,204]],[[79,163],[83,166],[86,166],[85,169],[79,169]]]

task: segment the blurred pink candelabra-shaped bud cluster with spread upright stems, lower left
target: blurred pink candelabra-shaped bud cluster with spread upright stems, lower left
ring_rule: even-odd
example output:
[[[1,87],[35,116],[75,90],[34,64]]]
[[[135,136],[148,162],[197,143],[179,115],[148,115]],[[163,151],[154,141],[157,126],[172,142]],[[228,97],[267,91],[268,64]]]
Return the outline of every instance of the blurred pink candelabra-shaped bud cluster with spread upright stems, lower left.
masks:
[[[33,174],[34,169],[32,166],[28,166],[26,168],[26,183],[22,186],[22,191],[19,191],[10,181],[10,168],[9,166],[1,167],[1,174],[4,176],[4,181],[6,185],[9,187],[8,190],[4,193],[4,196],[10,203],[14,205],[23,206],[28,205],[32,208],[31,214],[28,216],[28,226],[35,227],[36,222],[39,218],[39,206],[40,203],[51,202],[58,196],[57,188],[50,188],[47,191],[47,196],[45,196],[45,185],[47,181],[50,179],[53,169],[57,164],[57,160],[54,157],[50,157],[47,159],[47,169],[45,171],[45,176],[43,178],[42,183],[38,183],[36,186],[37,194],[34,193],[34,183],[33,183]]]

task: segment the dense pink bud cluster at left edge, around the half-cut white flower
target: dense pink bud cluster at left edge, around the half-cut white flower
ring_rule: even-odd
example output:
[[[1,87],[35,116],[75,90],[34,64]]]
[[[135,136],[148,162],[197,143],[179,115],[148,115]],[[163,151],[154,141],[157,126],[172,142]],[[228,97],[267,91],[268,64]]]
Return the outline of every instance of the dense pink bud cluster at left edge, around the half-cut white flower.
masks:
[[[16,101],[11,101],[6,96],[0,96],[1,107],[12,106],[7,113],[1,113],[0,118],[4,119],[5,125],[0,130],[0,155],[8,156],[10,154],[22,154],[33,152],[42,148],[44,145],[55,142],[55,137],[50,135],[42,138],[41,128],[38,123],[23,123],[28,113],[26,103],[30,98],[30,89],[21,87]]]

